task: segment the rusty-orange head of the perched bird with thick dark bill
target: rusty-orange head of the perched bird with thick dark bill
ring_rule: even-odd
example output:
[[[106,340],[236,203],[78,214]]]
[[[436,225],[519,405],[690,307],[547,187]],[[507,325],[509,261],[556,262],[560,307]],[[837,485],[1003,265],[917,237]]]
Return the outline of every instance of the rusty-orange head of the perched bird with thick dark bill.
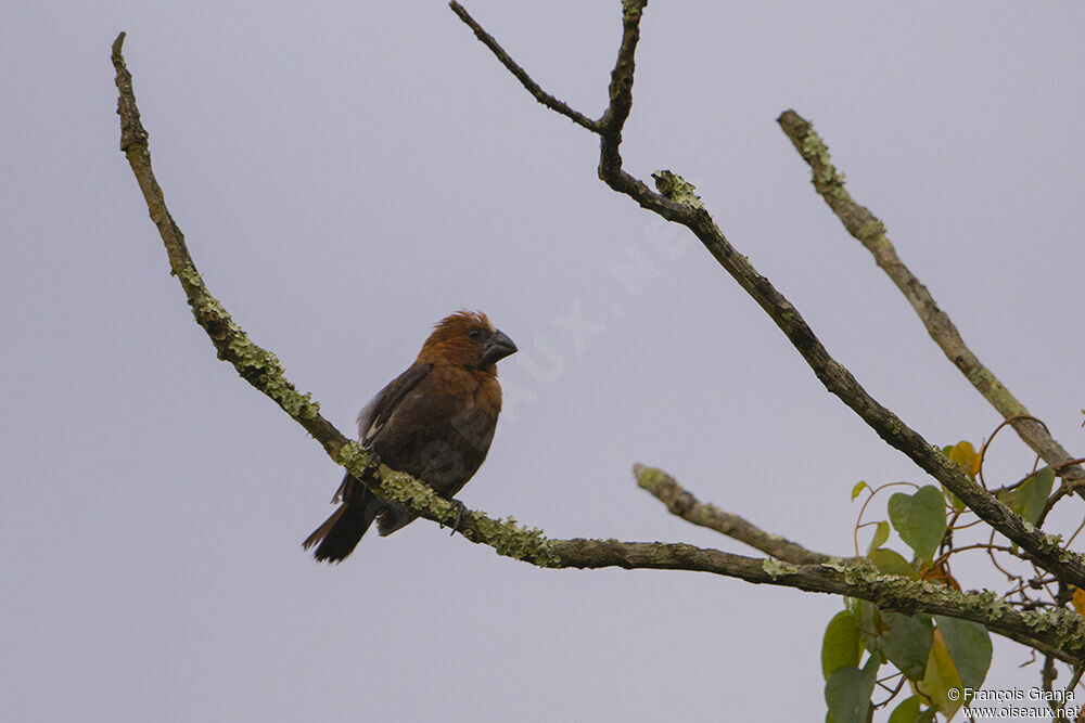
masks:
[[[438,321],[422,345],[416,363],[457,364],[497,373],[497,362],[516,351],[516,345],[481,311],[457,311]]]

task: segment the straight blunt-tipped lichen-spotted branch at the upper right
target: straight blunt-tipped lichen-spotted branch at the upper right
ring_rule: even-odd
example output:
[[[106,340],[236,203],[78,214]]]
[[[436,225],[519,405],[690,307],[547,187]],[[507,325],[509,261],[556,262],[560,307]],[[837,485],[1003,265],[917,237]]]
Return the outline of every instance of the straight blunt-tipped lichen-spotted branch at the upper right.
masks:
[[[814,188],[837,215],[847,232],[863,244],[875,261],[896,284],[934,343],[946,358],[972,383],[976,391],[1009,419],[1021,439],[1049,464],[1056,474],[1074,487],[1085,481],[1085,469],[1080,461],[1071,457],[1044,427],[1031,418],[1024,404],[1010,393],[1001,382],[984,366],[972,350],[965,345],[953,321],[939,308],[927,286],[908,270],[896,255],[896,249],[885,235],[885,225],[865,206],[860,206],[844,189],[844,176],[839,173],[829,157],[829,149],[815,132],[814,126],[794,111],[784,111],[776,119],[791,143],[813,171]]]

